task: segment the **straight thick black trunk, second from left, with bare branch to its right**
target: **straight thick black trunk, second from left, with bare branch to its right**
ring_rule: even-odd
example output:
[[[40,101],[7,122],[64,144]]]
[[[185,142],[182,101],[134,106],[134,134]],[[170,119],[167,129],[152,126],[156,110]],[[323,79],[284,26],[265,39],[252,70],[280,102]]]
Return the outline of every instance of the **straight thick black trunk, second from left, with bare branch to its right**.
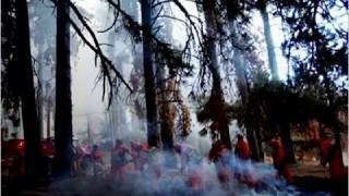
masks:
[[[73,152],[69,13],[69,0],[58,0],[55,117],[55,174],[58,176],[70,175]]]

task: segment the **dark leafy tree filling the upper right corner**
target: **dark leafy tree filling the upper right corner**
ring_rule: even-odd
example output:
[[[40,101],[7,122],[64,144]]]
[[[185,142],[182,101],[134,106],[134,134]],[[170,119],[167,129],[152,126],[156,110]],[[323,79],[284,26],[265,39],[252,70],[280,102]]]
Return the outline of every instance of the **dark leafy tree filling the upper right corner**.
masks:
[[[340,148],[337,123],[336,79],[348,74],[348,29],[333,25],[340,20],[334,14],[346,13],[345,1],[275,1],[275,14],[282,19],[287,33],[282,49],[296,76],[289,79],[301,93],[323,88],[332,113],[326,123],[333,128],[336,147]],[[330,26],[330,27],[329,27]],[[297,51],[302,51],[299,56]],[[341,154],[340,154],[341,155]]]

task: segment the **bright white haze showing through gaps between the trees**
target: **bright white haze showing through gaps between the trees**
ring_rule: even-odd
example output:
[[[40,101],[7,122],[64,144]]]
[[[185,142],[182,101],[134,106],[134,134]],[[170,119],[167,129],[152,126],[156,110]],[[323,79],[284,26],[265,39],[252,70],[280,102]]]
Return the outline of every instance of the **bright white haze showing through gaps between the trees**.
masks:
[[[105,4],[100,1],[77,0],[76,3],[80,7],[84,8],[88,13],[94,15],[94,19],[92,19],[94,29],[103,29],[103,27],[109,24],[106,23],[107,8],[101,7]],[[194,3],[183,1],[183,4],[186,7],[188,10],[190,10],[190,13],[197,13],[196,5]],[[180,11],[177,10],[177,8],[173,8],[172,10],[174,14],[177,14],[179,17],[182,16]],[[109,14],[109,16],[111,15]],[[104,24],[103,21],[105,21],[106,24]],[[253,17],[253,25],[255,27],[255,32],[257,32],[257,34],[260,35],[263,34],[262,24],[263,23],[260,14],[255,13]],[[98,27],[96,28],[96,26]],[[185,28],[179,23],[173,23],[173,26],[176,26],[173,27],[172,32],[174,45],[180,45],[185,37]],[[279,76],[281,79],[286,79],[287,64],[280,50],[280,44],[284,39],[284,35],[280,29],[280,22],[272,17],[272,34],[277,54]],[[262,46],[265,47],[265,45]],[[261,50],[264,51],[264,53],[262,53],[262,59],[264,60],[264,62],[267,62],[266,49],[262,48]],[[75,65],[72,69],[73,126],[75,136],[79,137],[79,135],[81,135],[80,133],[86,133],[87,114],[89,114],[92,130],[94,132],[98,132],[101,130],[101,123],[104,123],[105,121],[104,112],[106,108],[106,101],[101,102],[101,85],[98,84],[97,86],[95,86],[95,78],[98,74],[98,68],[94,66],[94,53],[86,46],[81,46],[80,51],[77,53],[77,59],[72,59],[72,62],[73,61],[76,61],[76,64],[74,63]],[[128,66],[128,64],[125,64],[124,66]],[[129,65],[129,68],[125,68],[125,70],[129,69],[131,69],[131,64]],[[182,90],[183,96],[186,97],[190,88],[185,88]],[[192,124],[196,125],[192,127],[193,132],[195,133],[201,127],[197,126],[197,123],[194,123],[196,122],[196,117],[193,114],[192,118]]]

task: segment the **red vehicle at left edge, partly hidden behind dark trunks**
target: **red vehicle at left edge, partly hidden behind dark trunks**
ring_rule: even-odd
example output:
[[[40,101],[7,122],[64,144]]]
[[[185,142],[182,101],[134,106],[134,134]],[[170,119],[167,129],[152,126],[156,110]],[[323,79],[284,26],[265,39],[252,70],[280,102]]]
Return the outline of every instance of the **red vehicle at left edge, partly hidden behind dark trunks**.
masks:
[[[1,143],[1,175],[24,173],[24,139],[3,140]],[[53,158],[53,143],[51,139],[41,140],[41,151],[47,162]]]

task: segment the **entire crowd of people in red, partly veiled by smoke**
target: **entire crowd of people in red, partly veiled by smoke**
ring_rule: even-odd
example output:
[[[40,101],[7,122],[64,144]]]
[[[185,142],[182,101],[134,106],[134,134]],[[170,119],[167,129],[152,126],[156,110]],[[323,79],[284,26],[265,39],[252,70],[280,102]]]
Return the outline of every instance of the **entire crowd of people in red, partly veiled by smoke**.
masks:
[[[256,176],[253,167],[248,167],[249,164],[252,166],[249,144],[241,134],[238,134],[237,138],[236,144],[230,148],[219,139],[213,142],[207,155],[208,163],[214,164],[217,181],[221,185],[229,187],[232,182],[238,182],[251,187],[258,187],[261,183],[263,184],[261,177]],[[330,179],[339,179],[341,173],[339,174],[340,167],[337,167],[339,166],[337,163],[337,160],[339,160],[337,151],[332,152],[328,147],[334,145],[332,143],[327,144],[327,140],[321,140],[318,135],[315,135],[313,139],[320,145],[323,166],[329,163]],[[284,179],[288,184],[292,184],[293,176],[287,164],[286,148],[278,133],[267,144],[272,149],[273,164],[277,172],[272,177]],[[110,156],[106,156],[106,154],[110,154]],[[185,179],[186,187],[200,195],[205,189],[207,179],[207,176],[204,177],[203,159],[203,155],[186,144],[174,144],[172,150],[167,151],[151,147],[147,143],[127,143],[117,139],[113,147],[107,152],[103,152],[97,145],[93,145],[91,148],[77,145],[74,169],[84,172],[89,168],[93,175],[104,175],[121,183],[133,182],[134,180],[130,180],[132,174],[136,176],[133,179],[160,181],[166,179],[168,171],[173,170]],[[214,176],[210,175],[209,177]],[[151,183],[149,185],[155,186],[154,184]]]

